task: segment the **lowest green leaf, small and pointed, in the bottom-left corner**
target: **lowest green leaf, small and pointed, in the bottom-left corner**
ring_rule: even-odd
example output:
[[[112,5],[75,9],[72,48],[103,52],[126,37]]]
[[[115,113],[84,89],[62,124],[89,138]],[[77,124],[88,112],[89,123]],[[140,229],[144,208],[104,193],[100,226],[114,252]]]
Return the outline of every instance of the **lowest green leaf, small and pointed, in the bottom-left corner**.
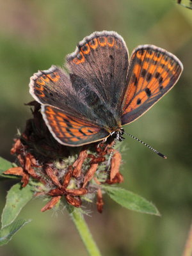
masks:
[[[10,225],[0,230],[0,245],[7,244],[13,235],[31,220],[15,220]]]

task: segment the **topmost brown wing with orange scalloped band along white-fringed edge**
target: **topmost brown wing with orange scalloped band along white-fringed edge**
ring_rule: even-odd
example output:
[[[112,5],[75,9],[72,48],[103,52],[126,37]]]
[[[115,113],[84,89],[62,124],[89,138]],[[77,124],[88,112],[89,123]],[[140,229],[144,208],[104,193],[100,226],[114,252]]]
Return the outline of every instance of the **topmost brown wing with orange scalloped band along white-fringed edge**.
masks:
[[[106,102],[106,108],[119,109],[128,67],[127,47],[120,35],[102,31],[86,36],[76,51],[67,56],[67,67],[88,84],[97,98]]]

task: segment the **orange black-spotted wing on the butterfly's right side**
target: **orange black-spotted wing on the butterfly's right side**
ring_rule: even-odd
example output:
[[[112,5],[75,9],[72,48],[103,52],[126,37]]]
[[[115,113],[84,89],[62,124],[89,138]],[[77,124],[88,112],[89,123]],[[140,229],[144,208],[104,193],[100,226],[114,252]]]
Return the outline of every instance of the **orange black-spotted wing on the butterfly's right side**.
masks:
[[[182,72],[179,59],[154,45],[141,45],[132,52],[128,85],[122,104],[122,124],[143,115],[177,82]]]

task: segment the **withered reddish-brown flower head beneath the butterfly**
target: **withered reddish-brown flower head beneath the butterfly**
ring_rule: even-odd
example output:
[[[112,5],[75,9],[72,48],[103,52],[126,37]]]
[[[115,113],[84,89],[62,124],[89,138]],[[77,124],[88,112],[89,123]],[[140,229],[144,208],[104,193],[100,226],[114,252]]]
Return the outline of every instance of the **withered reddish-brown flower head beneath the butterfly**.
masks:
[[[31,180],[36,181],[32,186],[35,196],[50,198],[41,211],[51,209],[63,197],[68,204],[81,207],[83,202],[93,202],[97,195],[97,209],[102,212],[101,184],[123,182],[119,172],[121,155],[113,149],[113,138],[83,147],[61,145],[47,129],[40,104],[33,101],[28,105],[33,106],[33,118],[26,122],[25,131],[11,149],[11,154],[17,156],[18,167],[4,173],[21,176],[23,187]]]

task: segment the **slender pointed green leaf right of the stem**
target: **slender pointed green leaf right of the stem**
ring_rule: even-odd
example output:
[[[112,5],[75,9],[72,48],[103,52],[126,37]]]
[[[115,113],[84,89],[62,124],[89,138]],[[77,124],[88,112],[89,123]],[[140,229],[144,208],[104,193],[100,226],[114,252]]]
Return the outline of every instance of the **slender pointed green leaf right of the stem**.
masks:
[[[129,210],[160,216],[159,211],[152,203],[131,191],[113,186],[102,186],[102,188],[111,199]]]

